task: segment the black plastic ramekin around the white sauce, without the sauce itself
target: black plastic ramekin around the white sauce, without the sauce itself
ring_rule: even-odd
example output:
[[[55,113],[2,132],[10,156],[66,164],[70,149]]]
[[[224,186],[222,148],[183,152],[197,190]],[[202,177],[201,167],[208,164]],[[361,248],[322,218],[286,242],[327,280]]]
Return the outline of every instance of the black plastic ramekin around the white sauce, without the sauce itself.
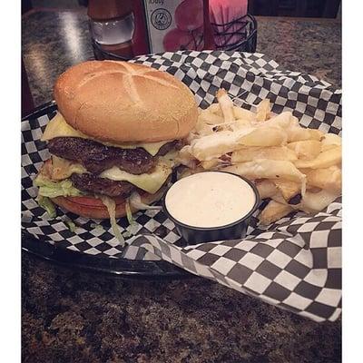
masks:
[[[211,172],[220,172],[220,171],[211,171]],[[246,179],[240,175],[233,174],[232,172],[224,172],[224,173],[232,174],[236,177],[239,177],[244,182],[247,182],[250,185],[250,187],[252,188],[252,191],[254,191],[255,196],[256,196],[255,204],[253,205],[253,208],[247,215],[245,215],[238,221],[234,221],[234,222],[232,222],[230,224],[226,224],[224,226],[192,227],[192,226],[182,223],[181,221],[177,221],[169,213],[168,209],[166,208],[166,204],[165,204],[166,195],[167,195],[169,189],[172,187],[168,188],[168,190],[165,191],[163,198],[162,198],[163,211],[168,216],[168,218],[175,224],[177,231],[188,244],[211,242],[213,240],[237,240],[237,239],[240,239],[240,238],[243,238],[246,236],[247,227],[249,226],[249,223],[250,223],[250,217],[259,208],[259,205],[260,205],[259,191],[257,191],[257,188],[255,187],[253,182],[250,182],[248,179]],[[208,213],[208,211],[206,211],[206,212]]]

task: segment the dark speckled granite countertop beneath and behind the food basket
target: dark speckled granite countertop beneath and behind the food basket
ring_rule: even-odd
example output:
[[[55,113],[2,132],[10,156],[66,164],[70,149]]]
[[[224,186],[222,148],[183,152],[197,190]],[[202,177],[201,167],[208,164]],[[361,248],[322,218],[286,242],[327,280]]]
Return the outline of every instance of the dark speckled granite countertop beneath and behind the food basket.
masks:
[[[292,71],[341,85],[337,21],[259,18],[258,51]],[[54,79],[93,57],[86,15],[23,18],[23,56],[36,105]],[[24,254],[23,361],[339,362],[341,320],[315,323],[201,278],[121,280]]]

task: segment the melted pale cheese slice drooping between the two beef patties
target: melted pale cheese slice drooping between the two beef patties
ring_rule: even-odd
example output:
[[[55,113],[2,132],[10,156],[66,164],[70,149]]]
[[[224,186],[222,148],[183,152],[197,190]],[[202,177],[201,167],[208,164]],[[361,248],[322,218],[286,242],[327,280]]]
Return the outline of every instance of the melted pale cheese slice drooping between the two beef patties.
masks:
[[[100,177],[118,182],[131,182],[143,191],[153,194],[156,191],[159,191],[162,184],[166,182],[171,173],[172,168],[167,163],[159,161],[150,173],[135,175],[124,172],[120,168],[113,166],[113,168],[102,172]]]

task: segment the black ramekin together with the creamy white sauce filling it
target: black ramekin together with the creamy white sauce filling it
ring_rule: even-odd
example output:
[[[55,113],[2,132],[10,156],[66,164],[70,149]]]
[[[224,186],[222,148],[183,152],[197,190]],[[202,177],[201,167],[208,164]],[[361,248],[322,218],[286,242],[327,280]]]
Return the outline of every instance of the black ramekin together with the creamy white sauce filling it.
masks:
[[[245,237],[260,196],[254,184],[230,172],[200,172],[175,182],[163,209],[189,244]]]

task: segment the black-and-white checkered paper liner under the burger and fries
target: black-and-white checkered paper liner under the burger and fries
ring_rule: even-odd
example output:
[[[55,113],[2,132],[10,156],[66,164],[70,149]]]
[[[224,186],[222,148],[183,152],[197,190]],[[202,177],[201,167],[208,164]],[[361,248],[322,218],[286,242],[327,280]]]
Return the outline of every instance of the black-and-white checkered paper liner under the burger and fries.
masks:
[[[167,71],[195,93],[202,108],[225,88],[246,109],[264,98],[272,111],[292,111],[306,127],[341,132],[341,91],[316,77],[289,72],[264,54],[178,52],[138,57],[133,62]],[[260,298],[316,321],[341,312],[341,199],[315,215],[302,212],[261,227],[256,215],[243,240],[185,247],[162,211],[142,211],[134,237],[122,248],[109,221],[93,221],[59,211],[50,220],[35,201],[33,180],[49,158],[40,141],[54,113],[22,122],[22,227],[59,248],[129,260],[167,260],[193,274]],[[69,218],[77,225],[70,231]],[[123,231],[131,231],[125,219]],[[134,226],[132,228],[135,228]]]

